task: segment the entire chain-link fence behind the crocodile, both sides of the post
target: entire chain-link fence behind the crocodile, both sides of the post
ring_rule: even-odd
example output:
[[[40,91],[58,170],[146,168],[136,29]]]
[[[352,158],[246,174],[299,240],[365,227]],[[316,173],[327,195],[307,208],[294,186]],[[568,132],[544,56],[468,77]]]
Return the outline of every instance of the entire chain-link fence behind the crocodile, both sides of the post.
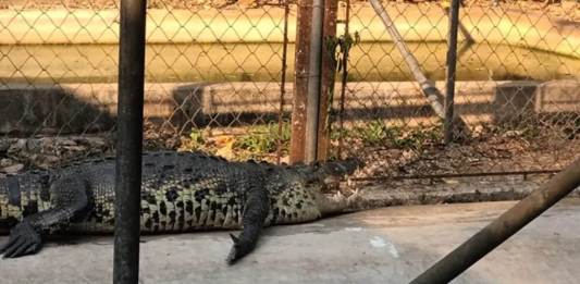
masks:
[[[468,127],[447,146],[409,54],[377,11],[351,0],[347,17],[338,3],[336,39],[353,46],[343,112],[343,64],[331,97],[330,157],[363,157],[363,177],[412,177],[553,171],[578,156],[578,2],[464,1],[455,101]],[[444,94],[446,1],[382,5],[420,73]],[[296,2],[148,8],[146,148],[285,161]],[[1,171],[111,153],[119,1],[10,0],[0,13]]]

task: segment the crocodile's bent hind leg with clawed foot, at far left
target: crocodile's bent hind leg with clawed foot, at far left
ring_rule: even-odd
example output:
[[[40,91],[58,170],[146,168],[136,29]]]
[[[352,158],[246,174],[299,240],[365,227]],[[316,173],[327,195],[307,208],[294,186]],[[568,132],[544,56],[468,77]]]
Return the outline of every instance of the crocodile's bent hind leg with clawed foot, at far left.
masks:
[[[40,250],[42,234],[65,227],[82,218],[88,207],[85,185],[74,177],[55,181],[50,186],[51,208],[28,215],[10,231],[8,243],[0,247],[3,258],[16,258]]]

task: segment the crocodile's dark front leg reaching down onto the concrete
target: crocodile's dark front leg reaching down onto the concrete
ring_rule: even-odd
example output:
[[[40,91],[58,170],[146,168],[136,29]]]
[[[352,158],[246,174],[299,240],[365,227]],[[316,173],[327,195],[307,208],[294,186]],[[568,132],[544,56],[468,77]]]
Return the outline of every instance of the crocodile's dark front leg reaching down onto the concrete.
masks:
[[[266,190],[261,188],[249,190],[242,220],[244,229],[238,237],[233,234],[230,235],[234,246],[230,250],[230,255],[227,255],[229,264],[233,264],[254,250],[269,209],[270,201]]]

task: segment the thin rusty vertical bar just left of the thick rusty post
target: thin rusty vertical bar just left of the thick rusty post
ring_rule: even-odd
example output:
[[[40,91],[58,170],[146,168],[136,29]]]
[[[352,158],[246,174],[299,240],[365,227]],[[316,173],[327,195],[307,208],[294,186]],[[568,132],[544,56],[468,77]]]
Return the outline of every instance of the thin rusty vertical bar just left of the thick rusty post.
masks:
[[[287,53],[288,53],[288,16],[289,4],[287,0],[284,1],[284,42],[282,44],[282,79],[280,82],[280,109],[277,113],[277,145],[276,145],[276,163],[280,164],[282,159],[282,124],[284,123],[284,99],[286,95],[286,70]]]

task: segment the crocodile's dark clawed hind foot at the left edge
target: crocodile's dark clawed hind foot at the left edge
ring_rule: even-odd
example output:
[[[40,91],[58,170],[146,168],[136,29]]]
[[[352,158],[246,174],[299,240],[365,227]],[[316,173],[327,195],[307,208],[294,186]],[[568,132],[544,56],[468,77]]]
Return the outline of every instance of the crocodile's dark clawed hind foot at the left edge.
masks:
[[[36,254],[42,246],[40,234],[28,222],[21,222],[10,231],[8,243],[0,248],[3,258]]]

